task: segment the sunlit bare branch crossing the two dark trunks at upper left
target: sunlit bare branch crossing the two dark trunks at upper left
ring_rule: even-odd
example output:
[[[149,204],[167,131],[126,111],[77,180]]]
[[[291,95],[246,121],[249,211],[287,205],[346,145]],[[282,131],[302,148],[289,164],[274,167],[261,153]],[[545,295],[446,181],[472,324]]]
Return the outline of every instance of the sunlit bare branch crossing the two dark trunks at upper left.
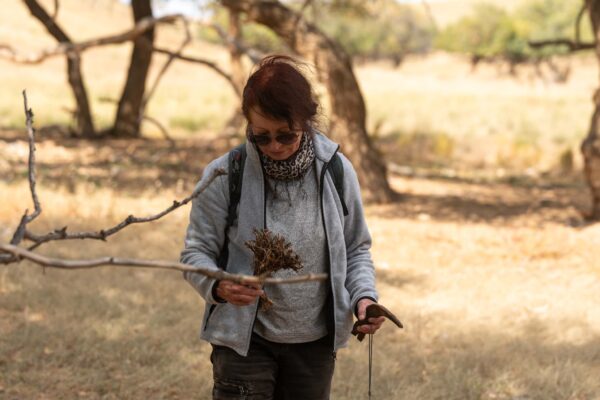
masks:
[[[35,55],[23,55],[16,52],[10,45],[0,44],[0,58],[21,64],[39,64],[48,58],[60,55],[79,54],[93,47],[109,46],[131,41],[144,34],[160,23],[172,23],[178,19],[183,19],[181,15],[167,15],[161,18],[144,18],[138,22],[132,29],[111,36],[90,39],[79,43],[60,43],[54,48],[42,50]]]

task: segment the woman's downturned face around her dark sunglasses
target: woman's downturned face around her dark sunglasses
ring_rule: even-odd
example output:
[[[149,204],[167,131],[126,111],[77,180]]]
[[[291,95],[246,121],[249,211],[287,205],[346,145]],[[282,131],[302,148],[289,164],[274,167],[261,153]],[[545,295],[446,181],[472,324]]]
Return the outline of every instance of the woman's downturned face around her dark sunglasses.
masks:
[[[270,137],[268,144],[258,144],[260,151],[267,157],[281,161],[290,158],[300,147],[302,131],[300,129],[290,130],[287,121],[265,117],[256,110],[250,110],[250,134],[256,137]],[[296,140],[290,144],[283,144],[275,140],[277,136],[295,133]]]

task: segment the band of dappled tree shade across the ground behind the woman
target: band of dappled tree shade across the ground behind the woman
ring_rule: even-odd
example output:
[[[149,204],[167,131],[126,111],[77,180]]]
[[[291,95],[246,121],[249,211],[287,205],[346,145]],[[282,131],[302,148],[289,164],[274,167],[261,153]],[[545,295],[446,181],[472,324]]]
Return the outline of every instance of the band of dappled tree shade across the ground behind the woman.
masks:
[[[0,129],[0,176],[6,182],[27,179],[27,141],[23,131]],[[53,130],[37,139],[38,184],[69,190],[81,184],[109,187],[123,193],[149,188],[177,187],[189,192],[203,167],[226,153],[237,142],[230,139],[195,138],[168,142],[149,139],[81,140]],[[547,222],[571,227],[585,226],[587,188],[581,177],[561,184],[535,179],[478,182],[463,178],[400,177],[403,186],[419,187],[435,182],[452,186],[451,194],[399,190],[398,201],[378,207],[374,214],[439,221],[468,221],[495,224]],[[477,188],[477,190],[472,190]],[[529,218],[530,216],[535,218]]]

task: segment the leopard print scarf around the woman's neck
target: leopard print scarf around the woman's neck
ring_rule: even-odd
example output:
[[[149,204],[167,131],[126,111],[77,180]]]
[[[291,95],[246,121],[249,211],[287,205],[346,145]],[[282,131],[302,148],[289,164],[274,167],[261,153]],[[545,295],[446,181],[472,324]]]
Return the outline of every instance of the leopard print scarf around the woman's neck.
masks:
[[[304,176],[315,160],[315,148],[310,133],[304,132],[298,151],[287,160],[273,160],[260,153],[265,173],[278,181],[295,181]]]

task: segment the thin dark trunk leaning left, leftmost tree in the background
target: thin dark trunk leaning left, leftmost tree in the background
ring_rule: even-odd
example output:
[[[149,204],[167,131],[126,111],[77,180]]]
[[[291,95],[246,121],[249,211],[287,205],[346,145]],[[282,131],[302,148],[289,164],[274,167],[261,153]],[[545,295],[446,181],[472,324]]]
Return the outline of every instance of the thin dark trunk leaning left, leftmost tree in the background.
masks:
[[[31,12],[31,15],[37,18],[58,42],[72,43],[65,31],[62,30],[56,20],[46,12],[37,0],[24,0],[24,3],[29,9],[29,12]],[[87,91],[83,84],[81,58],[79,54],[72,53],[67,55],[67,75],[69,77],[69,85],[71,86],[73,96],[75,97],[75,103],[77,104],[77,111],[75,114],[77,132],[84,137],[95,136],[96,130],[90,111]]]

